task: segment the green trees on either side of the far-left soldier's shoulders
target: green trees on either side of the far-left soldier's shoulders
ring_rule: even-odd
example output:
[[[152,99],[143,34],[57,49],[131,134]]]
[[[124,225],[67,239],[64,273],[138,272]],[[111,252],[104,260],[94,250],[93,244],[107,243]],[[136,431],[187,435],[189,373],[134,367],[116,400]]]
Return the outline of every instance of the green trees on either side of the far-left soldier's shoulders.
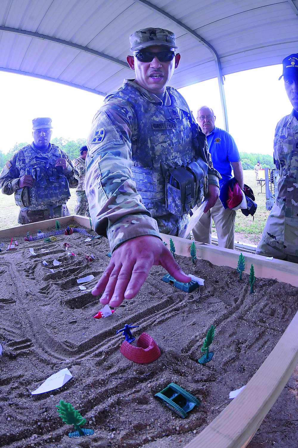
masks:
[[[54,145],[59,146],[60,149],[62,149],[64,152],[66,152],[67,155],[69,155],[70,159],[73,160],[76,157],[79,157],[80,152],[79,149],[81,146],[86,145],[86,138],[78,138],[77,140],[69,140],[68,138],[64,137],[55,137],[51,140],[51,143]],[[0,150],[0,170],[4,167],[7,160],[9,160],[13,154],[20,149],[22,149],[23,146],[28,145],[27,142],[22,143],[15,143],[13,148],[11,148],[7,154],[3,154]]]

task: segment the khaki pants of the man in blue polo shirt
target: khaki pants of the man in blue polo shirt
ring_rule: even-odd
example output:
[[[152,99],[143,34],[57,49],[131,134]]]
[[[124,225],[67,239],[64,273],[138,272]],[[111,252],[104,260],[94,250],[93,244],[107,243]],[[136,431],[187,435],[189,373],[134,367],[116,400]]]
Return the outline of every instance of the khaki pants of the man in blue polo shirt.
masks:
[[[234,223],[236,211],[226,210],[219,199],[214,207],[207,213],[203,213],[200,220],[193,228],[193,239],[201,243],[211,244],[211,218],[214,220],[219,247],[234,249]]]

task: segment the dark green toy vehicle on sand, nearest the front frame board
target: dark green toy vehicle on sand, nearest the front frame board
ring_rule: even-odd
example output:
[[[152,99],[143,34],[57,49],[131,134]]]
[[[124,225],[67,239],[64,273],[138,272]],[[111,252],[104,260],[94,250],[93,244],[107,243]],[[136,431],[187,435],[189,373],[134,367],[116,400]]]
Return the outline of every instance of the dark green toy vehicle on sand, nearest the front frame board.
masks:
[[[182,418],[187,417],[187,412],[191,411],[194,406],[201,404],[196,397],[175,383],[168,384],[165,389],[162,389],[161,392],[156,393],[154,396],[157,396],[168,408]]]

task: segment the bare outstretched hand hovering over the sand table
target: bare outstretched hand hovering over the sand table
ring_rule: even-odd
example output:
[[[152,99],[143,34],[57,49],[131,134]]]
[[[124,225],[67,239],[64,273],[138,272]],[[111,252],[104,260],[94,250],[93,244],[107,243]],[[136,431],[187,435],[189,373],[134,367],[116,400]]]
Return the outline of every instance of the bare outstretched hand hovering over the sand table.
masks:
[[[114,250],[92,294],[98,296],[104,291],[100,302],[118,306],[124,299],[135,297],[153,265],[163,266],[178,281],[191,281],[163,242],[158,237],[145,235],[125,241]]]

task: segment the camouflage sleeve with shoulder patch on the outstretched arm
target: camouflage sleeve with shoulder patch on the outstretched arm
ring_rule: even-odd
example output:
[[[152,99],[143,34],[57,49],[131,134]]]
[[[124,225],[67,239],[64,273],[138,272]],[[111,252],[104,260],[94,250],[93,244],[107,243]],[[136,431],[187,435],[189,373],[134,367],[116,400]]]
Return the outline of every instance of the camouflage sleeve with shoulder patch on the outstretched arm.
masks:
[[[85,192],[97,233],[111,250],[142,235],[159,237],[156,220],[142,204],[131,178],[131,139],[136,116],[123,100],[109,99],[94,117],[87,138]]]

